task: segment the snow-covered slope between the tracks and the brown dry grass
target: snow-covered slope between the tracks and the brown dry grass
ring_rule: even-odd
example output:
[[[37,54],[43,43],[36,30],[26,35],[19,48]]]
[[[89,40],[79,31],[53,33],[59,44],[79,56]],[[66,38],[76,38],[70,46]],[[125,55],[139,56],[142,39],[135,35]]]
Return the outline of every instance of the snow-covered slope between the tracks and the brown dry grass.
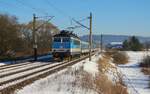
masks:
[[[81,74],[83,69],[94,74],[97,71],[95,63],[98,58],[99,56],[92,57],[91,62],[88,62],[88,59],[83,60],[58,73],[35,81],[33,84],[16,91],[16,94],[97,94],[92,89],[83,87]]]

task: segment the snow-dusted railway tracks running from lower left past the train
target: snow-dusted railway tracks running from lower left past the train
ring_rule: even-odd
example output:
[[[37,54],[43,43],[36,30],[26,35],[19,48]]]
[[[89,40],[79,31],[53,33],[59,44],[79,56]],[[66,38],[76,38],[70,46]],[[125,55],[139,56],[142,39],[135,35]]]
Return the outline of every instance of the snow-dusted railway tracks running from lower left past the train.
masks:
[[[56,71],[62,70],[87,57],[88,56],[83,56],[70,62],[64,61],[52,64],[23,63],[23,67],[20,64],[0,67],[0,72],[3,71],[2,74],[0,74],[0,94],[12,94],[16,89],[22,88]]]

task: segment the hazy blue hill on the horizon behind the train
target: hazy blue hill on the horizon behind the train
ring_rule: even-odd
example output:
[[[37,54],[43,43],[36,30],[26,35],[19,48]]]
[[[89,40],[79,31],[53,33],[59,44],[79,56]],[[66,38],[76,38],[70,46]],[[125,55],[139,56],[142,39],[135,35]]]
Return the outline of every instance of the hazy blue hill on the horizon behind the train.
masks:
[[[99,43],[101,39],[101,35],[93,35],[94,42]],[[103,35],[103,43],[108,44],[110,42],[123,42],[125,39],[128,39],[131,36],[125,36],[125,35]],[[150,41],[150,37],[141,37],[137,36],[140,42]],[[81,40],[87,41],[89,39],[88,35],[84,35],[80,37]]]

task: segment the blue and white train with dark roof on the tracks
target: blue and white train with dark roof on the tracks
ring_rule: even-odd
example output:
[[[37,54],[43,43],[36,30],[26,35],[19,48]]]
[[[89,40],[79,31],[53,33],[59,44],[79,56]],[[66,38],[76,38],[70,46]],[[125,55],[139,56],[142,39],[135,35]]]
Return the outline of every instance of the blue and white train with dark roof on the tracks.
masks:
[[[89,52],[89,43],[83,42],[72,32],[62,30],[53,36],[52,54],[54,58],[80,56]]]

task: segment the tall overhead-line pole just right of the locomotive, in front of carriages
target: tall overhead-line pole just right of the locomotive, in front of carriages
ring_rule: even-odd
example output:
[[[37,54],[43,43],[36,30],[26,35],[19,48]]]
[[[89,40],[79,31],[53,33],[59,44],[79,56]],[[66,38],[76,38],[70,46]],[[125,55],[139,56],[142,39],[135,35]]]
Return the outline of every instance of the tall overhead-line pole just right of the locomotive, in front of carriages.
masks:
[[[92,13],[90,13],[90,34],[89,34],[89,61],[91,61],[92,49]]]

